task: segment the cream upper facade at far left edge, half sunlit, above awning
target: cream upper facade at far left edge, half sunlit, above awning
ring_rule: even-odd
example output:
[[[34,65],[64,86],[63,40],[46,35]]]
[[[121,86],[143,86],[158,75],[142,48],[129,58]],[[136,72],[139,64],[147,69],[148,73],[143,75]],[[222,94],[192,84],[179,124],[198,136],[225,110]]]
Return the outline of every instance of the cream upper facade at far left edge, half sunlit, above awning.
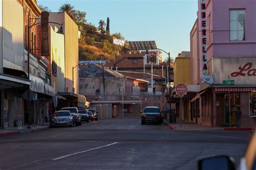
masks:
[[[3,67],[24,70],[23,7],[3,1]]]

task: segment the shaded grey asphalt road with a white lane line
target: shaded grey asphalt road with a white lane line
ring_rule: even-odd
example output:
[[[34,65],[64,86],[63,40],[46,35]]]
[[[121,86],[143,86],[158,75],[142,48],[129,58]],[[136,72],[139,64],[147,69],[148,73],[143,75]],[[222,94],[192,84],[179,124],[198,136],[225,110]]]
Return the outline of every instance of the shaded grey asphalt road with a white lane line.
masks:
[[[240,161],[249,132],[180,131],[139,118],[99,119],[0,137],[0,169],[197,169],[226,154]]]

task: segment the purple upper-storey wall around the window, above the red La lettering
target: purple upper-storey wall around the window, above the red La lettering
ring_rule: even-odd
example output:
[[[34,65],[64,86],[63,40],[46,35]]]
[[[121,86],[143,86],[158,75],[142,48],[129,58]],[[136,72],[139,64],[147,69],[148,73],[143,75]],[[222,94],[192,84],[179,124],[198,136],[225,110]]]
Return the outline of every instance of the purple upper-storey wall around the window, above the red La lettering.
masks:
[[[245,40],[230,41],[230,9],[245,9]],[[207,47],[207,56],[256,55],[256,1],[230,0],[211,1],[206,16],[211,14],[212,44]],[[207,32],[208,33],[208,32]]]

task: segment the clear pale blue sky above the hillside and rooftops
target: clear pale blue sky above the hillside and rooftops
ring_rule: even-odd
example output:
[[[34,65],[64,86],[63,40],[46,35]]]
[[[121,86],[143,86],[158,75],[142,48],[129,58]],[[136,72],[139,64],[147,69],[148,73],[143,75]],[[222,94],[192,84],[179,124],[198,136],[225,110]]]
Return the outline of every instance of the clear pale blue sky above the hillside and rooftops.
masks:
[[[157,47],[177,57],[190,51],[190,31],[197,19],[197,0],[37,0],[58,12],[68,3],[86,12],[87,23],[98,26],[110,18],[110,33],[120,32],[128,41],[156,41]],[[163,53],[163,57],[167,58]]]

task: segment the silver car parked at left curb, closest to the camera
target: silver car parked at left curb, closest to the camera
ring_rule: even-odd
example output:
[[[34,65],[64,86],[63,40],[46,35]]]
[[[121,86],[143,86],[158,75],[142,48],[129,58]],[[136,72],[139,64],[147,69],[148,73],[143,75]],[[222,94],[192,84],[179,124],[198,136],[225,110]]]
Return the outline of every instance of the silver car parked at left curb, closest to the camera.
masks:
[[[73,126],[75,123],[74,117],[70,114],[69,110],[56,111],[50,120],[50,127],[53,126]]]

